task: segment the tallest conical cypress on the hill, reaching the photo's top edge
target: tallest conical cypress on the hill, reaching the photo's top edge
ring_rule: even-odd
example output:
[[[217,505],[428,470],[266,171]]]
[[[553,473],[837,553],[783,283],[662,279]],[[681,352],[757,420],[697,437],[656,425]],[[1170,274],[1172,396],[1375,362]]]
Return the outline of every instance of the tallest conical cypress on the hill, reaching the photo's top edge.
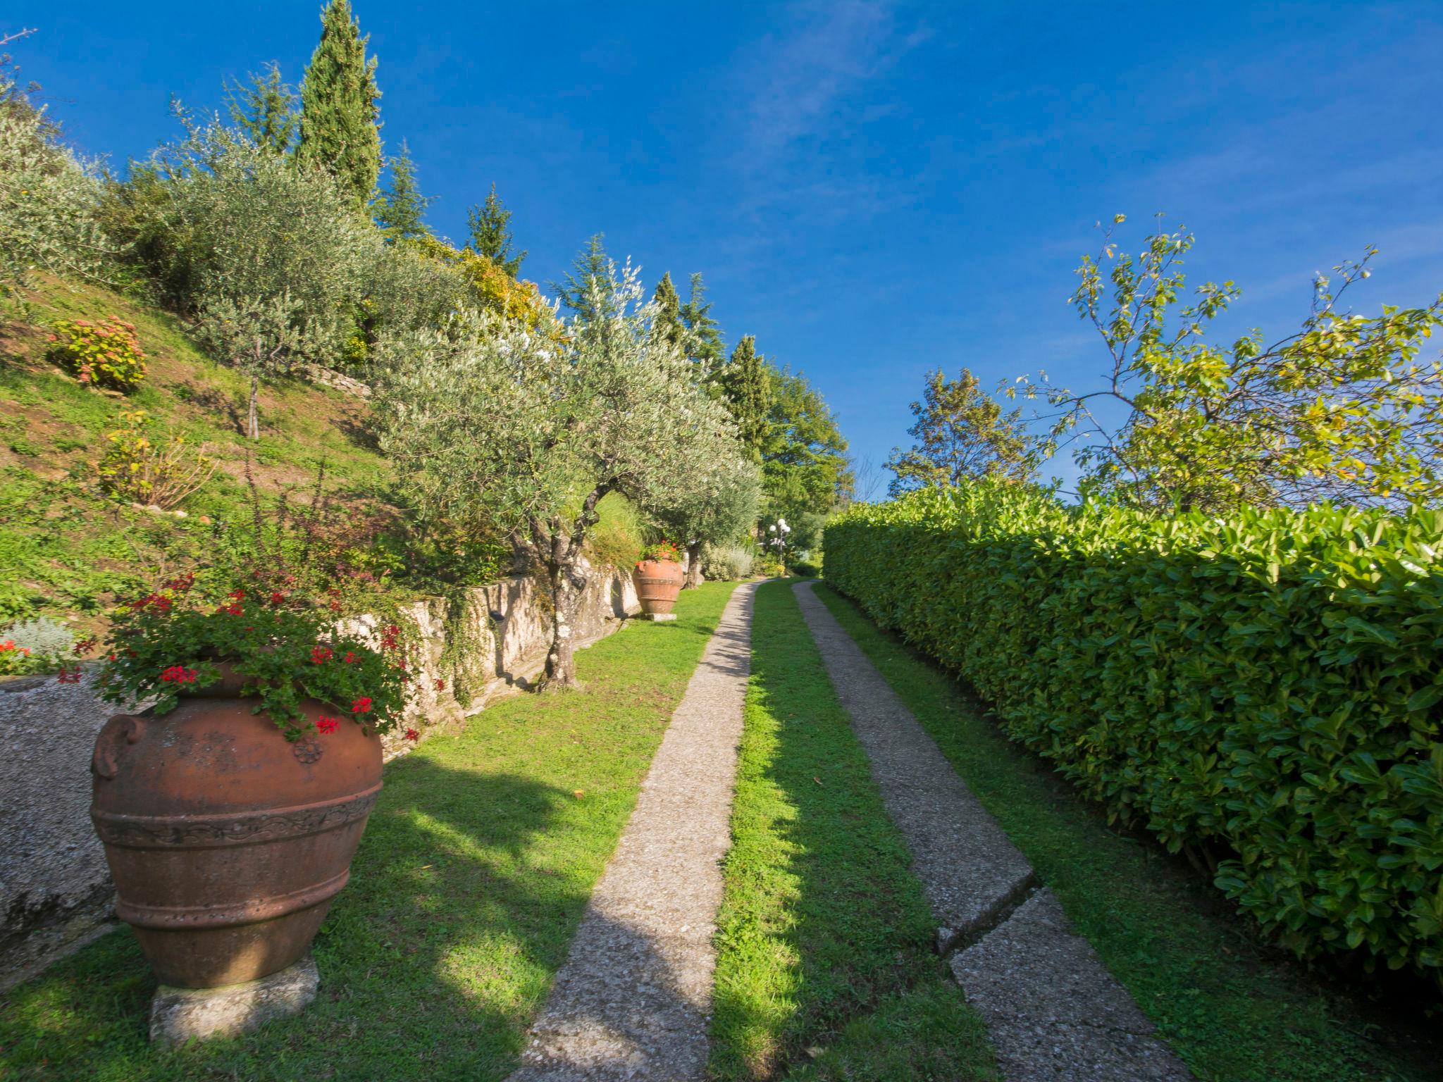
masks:
[[[296,163],[336,177],[358,206],[371,201],[381,176],[381,133],[375,58],[369,36],[351,14],[351,0],[329,0],[320,13],[320,43],[300,85],[300,143]]]

